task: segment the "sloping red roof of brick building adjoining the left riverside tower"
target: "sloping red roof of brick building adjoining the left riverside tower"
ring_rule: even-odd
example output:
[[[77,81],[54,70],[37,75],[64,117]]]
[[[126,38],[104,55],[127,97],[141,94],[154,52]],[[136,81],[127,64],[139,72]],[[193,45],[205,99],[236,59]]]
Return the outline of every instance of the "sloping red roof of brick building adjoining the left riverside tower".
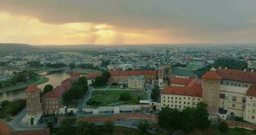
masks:
[[[59,98],[62,96],[62,94],[68,90],[70,90],[70,88],[72,87],[72,84],[74,84],[76,80],[74,80],[73,78],[67,78],[66,80],[63,80],[61,82],[60,86],[57,86],[57,88],[55,88],[54,90],[47,92],[43,95],[43,97],[55,97],[55,98]]]

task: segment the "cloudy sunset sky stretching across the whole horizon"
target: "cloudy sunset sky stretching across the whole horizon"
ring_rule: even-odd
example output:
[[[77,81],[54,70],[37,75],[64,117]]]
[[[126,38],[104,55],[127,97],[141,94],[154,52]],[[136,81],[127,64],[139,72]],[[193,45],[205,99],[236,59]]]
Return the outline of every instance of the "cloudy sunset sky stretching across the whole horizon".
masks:
[[[0,43],[256,43],[256,0],[0,0]]]

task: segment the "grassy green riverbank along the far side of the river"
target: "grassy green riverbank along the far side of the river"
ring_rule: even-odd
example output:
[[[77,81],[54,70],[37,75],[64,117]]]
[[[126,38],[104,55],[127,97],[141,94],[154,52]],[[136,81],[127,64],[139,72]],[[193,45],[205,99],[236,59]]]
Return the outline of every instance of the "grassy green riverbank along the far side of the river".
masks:
[[[36,80],[32,80],[29,82],[25,82],[24,84],[16,85],[16,86],[8,86],[5,88],[0,88],[0,93],[1,92],[6,92],[6,91],[11,91],[11,90],[20,90],[23,88],[27,88],[28,86],[35,84],[35,85],[40,85],[44,84],[45,82],[48,82],[49,78],[44,77],[44,76],[36,76]]]

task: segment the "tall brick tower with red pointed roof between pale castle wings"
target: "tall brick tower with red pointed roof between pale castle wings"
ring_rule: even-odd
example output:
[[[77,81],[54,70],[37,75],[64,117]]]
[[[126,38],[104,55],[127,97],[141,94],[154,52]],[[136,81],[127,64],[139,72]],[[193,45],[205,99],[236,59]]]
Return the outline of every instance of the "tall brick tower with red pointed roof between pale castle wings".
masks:
[[[209,119],[216,120],[219,110],[220,84],[222,77],[215,72],[215,68],[207,72],[202,78],[203,102],[208,105]]]

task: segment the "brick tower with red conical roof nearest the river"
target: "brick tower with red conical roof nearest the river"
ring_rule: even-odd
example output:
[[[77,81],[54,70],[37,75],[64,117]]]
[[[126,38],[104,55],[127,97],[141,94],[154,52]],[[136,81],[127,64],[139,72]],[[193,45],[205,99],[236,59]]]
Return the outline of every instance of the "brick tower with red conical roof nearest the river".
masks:
[[[37,86],[29,86],[26,88],[26,109],[27,115],[25,117],[26,124],[36,124],[42,115],[42,104],[40,101],[41,89]],[[33,120],[31,120],[33,119]]]

